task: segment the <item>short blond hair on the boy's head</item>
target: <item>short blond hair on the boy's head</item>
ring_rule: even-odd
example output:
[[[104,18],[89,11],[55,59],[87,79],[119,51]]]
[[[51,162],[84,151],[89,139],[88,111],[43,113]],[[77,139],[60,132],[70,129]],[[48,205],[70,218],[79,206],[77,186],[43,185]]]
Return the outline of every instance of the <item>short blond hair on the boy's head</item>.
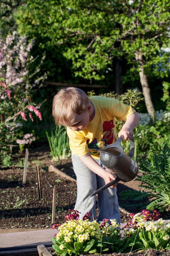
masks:
[[[52,115],[56,124],[69,125],[73,113],[81,114],[90,103],[84,91],[76,87],[60,89],[52,101]]]

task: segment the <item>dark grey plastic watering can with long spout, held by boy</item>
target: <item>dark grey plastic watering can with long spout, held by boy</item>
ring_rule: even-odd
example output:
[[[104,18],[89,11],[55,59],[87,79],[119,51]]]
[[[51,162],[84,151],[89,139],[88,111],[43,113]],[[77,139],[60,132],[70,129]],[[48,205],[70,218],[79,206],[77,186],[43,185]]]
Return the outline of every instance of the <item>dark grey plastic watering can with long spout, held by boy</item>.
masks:
[[[123,139],[124,136],[120,136],[114,144],[107,145],[105,148],[99,150],[102,165],[106,168],[112,169],[113,173],[116,175],[116,179],[92,193],[90,197],[95,196],[99,192],[119,181],[132,181],[138,174],[138,164],[132,159],[135,149],[134,140],[130,140],[130,150],[127,155],[120,145]]]

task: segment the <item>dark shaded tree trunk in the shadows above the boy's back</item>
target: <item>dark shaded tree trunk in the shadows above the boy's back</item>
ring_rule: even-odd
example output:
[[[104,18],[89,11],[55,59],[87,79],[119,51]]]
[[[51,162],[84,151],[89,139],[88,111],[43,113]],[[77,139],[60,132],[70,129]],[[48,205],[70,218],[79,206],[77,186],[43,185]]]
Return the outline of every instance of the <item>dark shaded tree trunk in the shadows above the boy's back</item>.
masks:
[[[122,57],[115,58],[115,92],[119,95],[123,93],[122,83]]]

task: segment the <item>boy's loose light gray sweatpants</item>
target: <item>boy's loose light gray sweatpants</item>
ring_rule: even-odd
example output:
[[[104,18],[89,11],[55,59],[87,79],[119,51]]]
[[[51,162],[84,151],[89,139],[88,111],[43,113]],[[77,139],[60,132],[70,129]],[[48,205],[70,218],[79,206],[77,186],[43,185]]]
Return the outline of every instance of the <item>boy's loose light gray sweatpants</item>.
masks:
[[[87,168],[77,155],[71,155],[71,158],[73,169],[77,177],[77,200],[74,210],[81,213],[79,213],[80,219],[82,219],[86,213],[92,213],[96,219],[96,196],[89,196],[94,191],[103,187],[105,185],[105,181],[99,175],[96,175]],[[96,161],[102,166],[100,160]],[[120,212],[116,187],[105,189],[98,194],[98,208],[98,222],[105,218],[109,220],[116,219],[120,224]]]

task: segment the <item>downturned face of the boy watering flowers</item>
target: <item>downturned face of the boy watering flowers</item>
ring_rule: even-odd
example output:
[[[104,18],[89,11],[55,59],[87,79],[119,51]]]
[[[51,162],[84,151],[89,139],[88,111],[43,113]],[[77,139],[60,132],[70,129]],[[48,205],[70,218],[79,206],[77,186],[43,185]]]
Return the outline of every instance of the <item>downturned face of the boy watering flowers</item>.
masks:
[[[90,105],[90,104],[89,104]],[[69,125],[64,125],[73,131],[83,131],[87,127],[90,120],[90,113],[92,112],[92,107],[87,106],[87,110],[82,112],[80,115],[74,113]]]

